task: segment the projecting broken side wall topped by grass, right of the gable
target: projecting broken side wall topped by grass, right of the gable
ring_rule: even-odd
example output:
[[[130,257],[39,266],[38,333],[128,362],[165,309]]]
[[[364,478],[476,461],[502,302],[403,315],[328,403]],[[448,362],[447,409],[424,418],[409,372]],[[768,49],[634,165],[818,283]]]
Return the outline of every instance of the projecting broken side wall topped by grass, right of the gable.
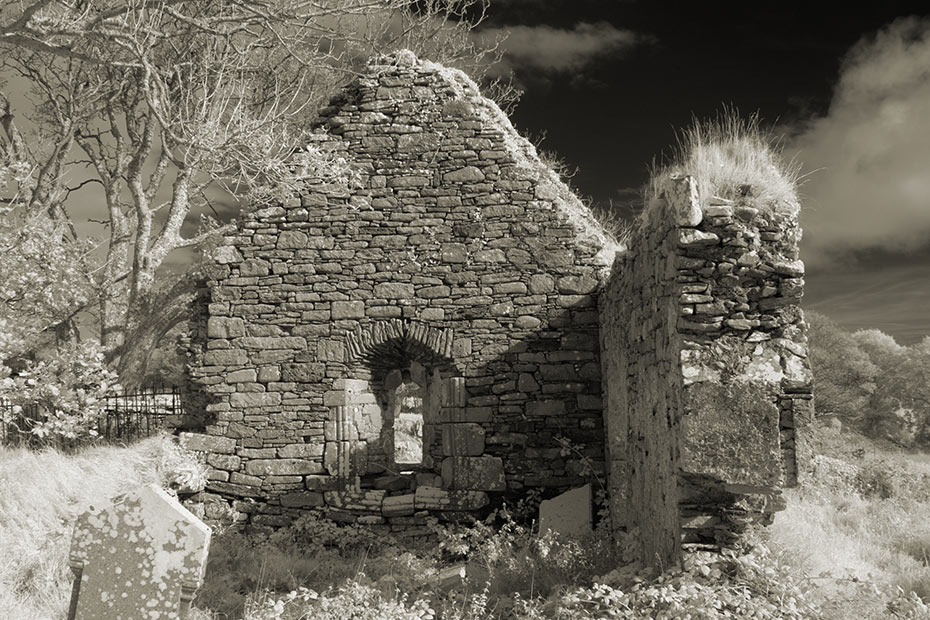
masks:
[[[668,179],[601,297],[612,516],[666,565],[770,520],[809,457],[797,204],[750,200]]]

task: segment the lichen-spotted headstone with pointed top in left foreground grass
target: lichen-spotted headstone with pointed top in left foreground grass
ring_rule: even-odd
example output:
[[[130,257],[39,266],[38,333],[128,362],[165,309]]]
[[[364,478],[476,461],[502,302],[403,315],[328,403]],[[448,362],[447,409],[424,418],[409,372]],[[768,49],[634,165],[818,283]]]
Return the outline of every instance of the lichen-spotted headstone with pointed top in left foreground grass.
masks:
[[[184,620],[203,583],[210,528],[152,485],[78,517],[68,620]]]

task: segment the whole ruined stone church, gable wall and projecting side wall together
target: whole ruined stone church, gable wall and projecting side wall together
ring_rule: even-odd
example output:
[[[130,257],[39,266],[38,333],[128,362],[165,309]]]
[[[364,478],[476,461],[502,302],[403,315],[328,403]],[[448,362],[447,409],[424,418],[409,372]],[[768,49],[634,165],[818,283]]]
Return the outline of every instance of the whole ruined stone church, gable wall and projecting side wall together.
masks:
[[[409,52],[320,118],[330,172],[207,268],[209,419],[185,442],[214,499],[416,535],[592,483],[663,562],[780,507],[812,417],[797,204],[665,179],[620,244],[471,80]]]

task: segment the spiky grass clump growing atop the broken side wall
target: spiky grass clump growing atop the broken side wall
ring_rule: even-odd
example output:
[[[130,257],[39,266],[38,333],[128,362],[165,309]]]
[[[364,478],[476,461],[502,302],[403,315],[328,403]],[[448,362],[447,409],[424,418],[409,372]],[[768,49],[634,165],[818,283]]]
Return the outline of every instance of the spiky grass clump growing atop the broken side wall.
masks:
[[[703,204],[716,199],[797,210],[801,166],[782,156],[758,113],[744,118],[736,108],[724,107],[712,119],[693,118],[677,138],[669,161],[653,164],[648,195],[658,197],[669,176],[690,175]]]

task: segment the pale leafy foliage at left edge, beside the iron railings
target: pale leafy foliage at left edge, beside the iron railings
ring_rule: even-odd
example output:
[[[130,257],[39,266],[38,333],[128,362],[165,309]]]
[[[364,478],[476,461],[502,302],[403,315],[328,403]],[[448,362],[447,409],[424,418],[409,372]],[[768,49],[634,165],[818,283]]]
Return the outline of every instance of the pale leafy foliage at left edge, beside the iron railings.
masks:
[[[16,165],[4,169],[18,170]],[[22,180],[22,179],[21,179]],[[74,317],[89,303],[87,242],[72,242],[47,212],[21,197],[0,207],[0,399],[2,420],[38,439],[93,435],[116,384],[94,342],[78,342]],[[38,408],[28,427],[23,408]]]

